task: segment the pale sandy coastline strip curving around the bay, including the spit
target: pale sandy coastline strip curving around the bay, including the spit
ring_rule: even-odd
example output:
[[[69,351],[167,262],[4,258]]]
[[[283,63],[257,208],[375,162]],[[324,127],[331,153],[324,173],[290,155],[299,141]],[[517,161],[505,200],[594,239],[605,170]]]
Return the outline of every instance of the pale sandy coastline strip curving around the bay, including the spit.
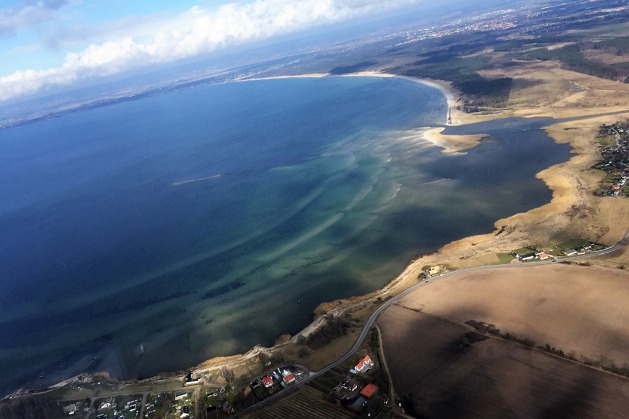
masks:
[[[305,74],[304,77],[327,77],[330,74],[317,73],[317,74]],[[487,120],[501,119],[510,116],[521,117],[538,117],[538,116],[550,116],[554,113],[554,110],[549,109],[533,109],[534,107],[524,107],[514,112],[512,109],[508,109],[492,115],[472,115],[463,114],[456,110],[456,103],[460,99],[460,94],[449,86],[449,83],[444,81],[435,81],[429,79],[420,79],[414,77],[398,76],[389,73],[382,73],[378,71],[362,71],[350,74],[339,75],[340,77],[397,77],[405,80],[409,80],[416,83],[422,83],[427,86],[438,89],[446,98],[448,103],[448,114],[451,116],[451,121],[445,125],[461,125],[464,123],[481,122]],[[293,76],[277,76],[268,77],[266,79],[273,78],[297,78],[299,75]],[[256,80],[263,80],[260,78]],[[549,107],[550,108],[550,107]],[[414,260],[411,260],[408,265],[402,270],[402,272],[395,278],[391,279],[379,290],[373,291],[369,294],[354,296],[346,299],[339,299],[330,302],[323,302],[315,309],[315,319],[309,325],[305,326],[299,333],[292,336],[287,342],[282,342],[270,348],[263,348],[256,346],[245,354],[236,355],[235,359],[240,362],[244,359],[251,359],[260,352],[274,353],[282,351],[286,346],[296,344],[301,338],[308,337],[314,333],[322,324],[325,323],[325,318],[330,316],[339,316],[345,311],[349,311],[353,308],[360,307],[366,303],[371,303],[377,300],[386,299],[393,295],[396,295],[410,285],[416,283],[418,275],[422,272],[423,267],[428,265],[437,265],[451,262],[452,260],[470,260],[479,254],[485,254],[491,252],[490,249],[508,249],[525,246],[531,240],[531,232],[535,232],[531,225],[537,224],[537,220],[542,218],[542,223],[552,224],[555,228],[549,233],[560,234],[561,230],[567,227],[566,222],[555,223],[554,216],[556,214],[562,214],[563,211],[569,209],[571,205],[583,204],[587,202],[587,189],[582,182],[575,179],[573,174],[575,172],[582,172],[590,169],[592,163],[593,151],[597,152],[597,145],[593,141],[588,141],[588,135],[591,135],[592,122],[598,124],[610,123],[612,120],[620,119],[622,115],[610,115],[618,109],[607,110],[601,116],[597,116],[595,121],[592,121],[592,114],[596,111],[590,109],[583,109],[581,112],[567,111],[562,112],[564,117],[576,117],[575,121],[563,122],[551,125],[543,128],[546,130],[551,139],[557,143],[568,143],[573,147],[573,154],[576,154],[567,162],[549,167],[537,174],[537,177],[541,179],[547,187],[552,191],[551,201],[547,204],[531,209],[525,213],[514,214],[505,219],[497,220],[494,223],[495,230],[487,232],[483,235],[465,237],[460,240],[448,243],[442,248],[438,249],[434,253],[429,255],[422,255]],[[603,112],[601,112],[603,113]],[[629,118],[629,111],[626,112],[625,117]],[[574,125],[579,125],[581,121],[586,120],[584,124],[588,130],[578,138],[566,138],[566,131],[574,129]],[[594,128],[598,128],[596,125]],[[475,147],[485,135],[474,136],[452,136],[442,135],[441,131],[444,128],[431,128],[421,134],[424,139],[432,142],[436,146],[444,148],[443,153],[457,153],[463,152],[470,148]],[[591,140],[591,138],[590,138]],[[594,149],[594,150],[593,150]],[[594,174],[593,178],[596,180],[597,175]],[[629,206],[627,206],[629,209]],[[627,225],[629,225],[629,217],[627,217]],[[584,222],[585,224],[585,222]],[[506,227],[506,228],[505,228]],[[616,231],[610,232],[609,230],[605,234],[600,236],[601,241],[606,243],[614,243],[621,239],[624,234],[625,228],[619,226]],[[505,234],[499,235],[501,231],[505,231]],[[611,233],[611,234],[608,234]],[[575,233],[578,235],[578,233]],[[533,237],[534,238],[534,237]],[[480,262],[485,263],[480,258]],[[473,262],[472,262],[473,263]],[[471,266],[469,264],[461,264],[458,267]],[[233,357],[230,357],[233,358]],[[197,366],[197,371],[206,369],[211,365],[220,364],[220,358],[210,359]],[[218,368],[218,367],[215,367]]]

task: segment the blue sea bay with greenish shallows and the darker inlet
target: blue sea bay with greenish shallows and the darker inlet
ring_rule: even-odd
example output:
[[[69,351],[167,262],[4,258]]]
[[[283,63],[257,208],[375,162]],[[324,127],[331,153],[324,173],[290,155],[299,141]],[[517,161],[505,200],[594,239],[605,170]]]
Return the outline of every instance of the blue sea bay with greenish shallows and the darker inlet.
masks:
[[[550,200],[535,173],[569,149],[547,120],[468,127],[491,136],[444,155],[420,132],[446,113],[408,80],[276,79],[0,131],[0,390],[270,345]]]

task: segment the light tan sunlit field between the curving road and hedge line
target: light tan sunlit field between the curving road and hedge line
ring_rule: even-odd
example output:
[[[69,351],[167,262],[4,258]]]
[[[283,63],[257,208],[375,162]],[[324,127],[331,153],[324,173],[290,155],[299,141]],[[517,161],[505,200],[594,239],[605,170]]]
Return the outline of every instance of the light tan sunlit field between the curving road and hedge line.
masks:
[[[462,272],[400,304],[457,323],[494,324],[537,345],[622,366],[629,363],[628,299],[627,271],[555,264]]]

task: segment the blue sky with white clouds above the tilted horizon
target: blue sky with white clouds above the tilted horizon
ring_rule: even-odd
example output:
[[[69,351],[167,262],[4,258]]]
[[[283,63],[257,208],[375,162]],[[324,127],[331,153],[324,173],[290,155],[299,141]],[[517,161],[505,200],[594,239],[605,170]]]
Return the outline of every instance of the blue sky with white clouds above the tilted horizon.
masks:
[[[0,101],[428,0],[3,0]]]

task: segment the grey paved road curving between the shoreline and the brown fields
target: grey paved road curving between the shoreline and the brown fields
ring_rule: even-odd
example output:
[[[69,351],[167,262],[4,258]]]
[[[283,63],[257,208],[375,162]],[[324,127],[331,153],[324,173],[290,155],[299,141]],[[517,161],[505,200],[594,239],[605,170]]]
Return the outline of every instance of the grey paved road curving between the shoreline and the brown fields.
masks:
[[[580,260],[580,259],[589,259],[589,258],[592,258],[592,257],[608,255],[608,254],[611,254],[611,253],[614,253],[616,251],[621,250],[624,246],[627,245],[628,242],[629,242],[629,230],[627,230],[627,232],[625,233],[624,238],[622,240],[620,240],[618,243],[616,243],[615,245],[613,245],[613,246],[606,247],[605,249],[597,250],[597,251],[594,251],[594,252],[589,252],[589,253],[586,253],[585,255],[562,257],[561,261],[573,261],[573,260]],[[292,386],[292,390],[291,391],[284,390],[284,391],[281,391],[279,393],[276,393],[273,396],[269,397],[268,399],[265,399],[262,402],[254,405],[254,406],[252,406],[252,407],[250,407],[248,409],[245,409],[245,410],[239,412],[237,414],[237,416],[241,416],[241,415],[250,413],[250,412],[252,412],[254,410],[257,410],[257,409],[259,409],[259,408],[261,408],[263,406],[266,406],[266,405],[268,405],[268,404],[270,404],[270,403],[280,399],[281,397],[289,394],[290,392],[296,390],[297,388],[303,386],[304,384],[307,384],[308,382],[314,380],[315,378],[322,376],[323,374],[327,373],[331,369],[341,365],[350,356],[352,356],[358,350],[358,348],[360,348],[360,346],[363,344],[365,338],[367,337],[367,334],[369,333],[369,330],[373,327],[373,325],[376,323],[376,320],[378,319],[378,317],[380,316],[380,314],[382,314],[382,312],[384,310],[386,310],[392,304],[397,303],[398,301],[400,301],[402,298],[406,297],[407,295],[415,292],[416,290],[418,290],[420,288],[425,287],[426,285],[430,284],[431,282],[438,281],[440,279],[447,278],[447,277],[452,276],[452,275],[459,275],[459,274],[463,274],[463,273],[467,273],[467,272],[473,272],[473,271],[491,270],[491,269],[504,269],[504,268],[516,269],[516,268],[521,268],[523,266],[552,265],[552,264],[556,264],[556,263],[558,263],[557,259],[552,259],[552,260],[548,260],[548,261],[539,261],[539,262],[526,263],[526,264],[525,263],[514,263],[514,264],[503,264],[503,265],[477,266],[477,267],[473,267],[473,268],[465,268],[465,269],[459,269],[457,271],[447,272],[447,273],[441,274],[439,276],[434,276],[434,277],[431,277],[431,278],[429,278],[427,280],[419,282],[419,283],[413,285],[412,287],[402,291],[398,295],[396,295],[394,297],[391,297],[390,299],[386,300],[384,303],[382,303],[382,305],[380,307],[378,307],[376,309],[376,311],[374,311],[371,314],[369,319],[367,319],[367,321],[365,322],[365,325],[363,326],[363,329],[361,330],[360,335],[356,339],[356,342],[354,343],[354,345],[352,345],[352,347],[350,349],[348,349],[347,352],[345,352],[339,359],[337,359],[336,361],[332,362],[331,364],[329,364],[325,368],[320,369],[319,371],[311,372],[308,377],[305,377],[300,382],[295,383],[295,385]]]

